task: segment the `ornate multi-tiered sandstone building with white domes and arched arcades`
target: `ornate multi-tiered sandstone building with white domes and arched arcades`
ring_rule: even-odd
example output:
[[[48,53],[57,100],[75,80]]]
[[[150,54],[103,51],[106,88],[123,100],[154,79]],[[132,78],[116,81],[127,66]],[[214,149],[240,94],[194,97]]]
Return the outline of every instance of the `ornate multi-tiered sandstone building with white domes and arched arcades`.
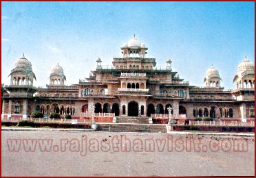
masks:
[[[9,75],[10,85],[5,86],[2,118],[27,118],[36,110],[90,118],[94,108],[101,122],[109,122],[114,116],[164,118],[169,107],[175,118],[254,118],[255,66],[246,57],[237,66],[236,88],[224,90],[214,66],[206,71],[204,87],[191,86],[172,70],[170,59],[166,66],[156,66],[147,49],[134,36],[121,47],[122,56],[113,58],[113,66],[103,66],[98,58],[89,78],[72,86],[65,86],[63,68],[57,64],[45,88],[33,86],[36,75],[23,55]]]

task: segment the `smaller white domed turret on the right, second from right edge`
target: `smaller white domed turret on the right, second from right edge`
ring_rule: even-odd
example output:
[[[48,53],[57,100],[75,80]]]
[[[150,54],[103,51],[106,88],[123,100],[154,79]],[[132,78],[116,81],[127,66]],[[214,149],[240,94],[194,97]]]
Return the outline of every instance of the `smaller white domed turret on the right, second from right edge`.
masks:
[[[204,78],[204,84],[206,87],[220,87],[220,78],[219,71],[212,65],[206,71],[206,77]]]

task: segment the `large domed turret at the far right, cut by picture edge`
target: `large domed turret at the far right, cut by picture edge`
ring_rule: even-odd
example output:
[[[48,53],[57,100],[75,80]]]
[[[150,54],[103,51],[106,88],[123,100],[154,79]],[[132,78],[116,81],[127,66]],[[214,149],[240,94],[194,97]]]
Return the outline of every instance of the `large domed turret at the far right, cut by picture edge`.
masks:
[[[244,60],[237,66],[237,73],[233,79],[237,88],[254,88],[255,66],[245,56]]]

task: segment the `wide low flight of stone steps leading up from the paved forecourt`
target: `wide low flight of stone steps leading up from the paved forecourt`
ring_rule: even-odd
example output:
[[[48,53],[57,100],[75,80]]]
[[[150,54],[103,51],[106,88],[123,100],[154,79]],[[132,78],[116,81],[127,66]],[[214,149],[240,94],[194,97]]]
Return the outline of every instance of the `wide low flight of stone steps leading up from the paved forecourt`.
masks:
[[[167,127],[163,124],[99,123],[97,131],[167,133]]]

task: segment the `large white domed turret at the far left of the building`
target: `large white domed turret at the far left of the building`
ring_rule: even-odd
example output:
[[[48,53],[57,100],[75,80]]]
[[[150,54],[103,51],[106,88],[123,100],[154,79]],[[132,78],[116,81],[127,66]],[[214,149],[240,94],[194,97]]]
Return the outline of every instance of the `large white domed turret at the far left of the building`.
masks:
[[[11,85],[23,85],[23,86],[33,86],[33,79],[36,79],[32,71],[31,62],[23,57],[17,60],[14,64],[15,68],[12,69],[9,76],[11,76]]]

